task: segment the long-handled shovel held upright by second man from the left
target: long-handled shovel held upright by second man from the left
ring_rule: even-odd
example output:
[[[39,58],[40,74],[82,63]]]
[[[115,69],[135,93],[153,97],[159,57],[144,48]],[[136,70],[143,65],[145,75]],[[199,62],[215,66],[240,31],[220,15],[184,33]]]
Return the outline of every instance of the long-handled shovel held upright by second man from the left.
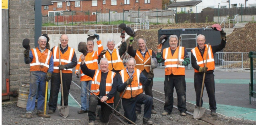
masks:
[[[59,60],[61,60],[61,58],[60,58],[60,44],[59,43],[58,43],[58,48],[59,48]],[[60,65],[61,65],[61,61],[60,61]],[[60,70],[60,86],[61,86],[62,106],[57,106],[57,107],[58,107],[60,115],[62,117],[64,117],[64,118],[67,118],[68,117],[68,113],[69,113],[69,107],[68,106],[64,106],[62,70]]]

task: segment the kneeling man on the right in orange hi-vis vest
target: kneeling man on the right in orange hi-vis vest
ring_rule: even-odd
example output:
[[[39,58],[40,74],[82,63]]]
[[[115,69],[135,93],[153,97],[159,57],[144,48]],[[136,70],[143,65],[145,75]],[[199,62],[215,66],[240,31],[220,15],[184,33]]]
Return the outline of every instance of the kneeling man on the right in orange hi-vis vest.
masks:
[[[150,72],[148,76],[145,77],[139,69],[135,68],[135,66],[135,59],[129,58],[127,60],[127,67],[119,72],[122,77],[122,82],[118,82],[117,85],[117,91],[120,92],[120,96],[123,94],[123,91],[128,84],[122,98],[124,116],[129,120],[136,122],[136,103],[144,104],[143,124],[152,125],[153,122],[149,119],[151,118],[153,98],[143,94],[142,85],[149,86],[154,73]]]

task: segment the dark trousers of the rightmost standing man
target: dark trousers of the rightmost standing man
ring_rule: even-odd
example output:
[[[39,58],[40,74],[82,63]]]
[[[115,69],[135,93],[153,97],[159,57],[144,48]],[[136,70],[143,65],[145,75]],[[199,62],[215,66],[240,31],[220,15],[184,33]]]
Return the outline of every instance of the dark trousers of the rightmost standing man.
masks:
[[[200,94],[202,89],[203,74],[194,74],[194,87],[196,90],[196,106],[199,106]],[[210,110],[216,111],[216,100],[215,100],[215,82],[213,73],[206,73],[204,79],[204,85],[208,94]],[[201,106],[203,105],[203,99]]]

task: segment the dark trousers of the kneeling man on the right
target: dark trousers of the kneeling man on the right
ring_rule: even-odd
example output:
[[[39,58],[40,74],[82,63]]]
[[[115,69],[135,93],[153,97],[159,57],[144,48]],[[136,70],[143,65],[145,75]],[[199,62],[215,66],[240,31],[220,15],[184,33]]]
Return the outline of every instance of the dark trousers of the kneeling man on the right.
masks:
[[[124,116],[128,119],[130,119],[133,122],[136,122],[137,116],[135,113],[135,107],[136,103],[144,104],[144,117],[145,118],[151,118],[151,107],[153,104],[153,98],[145,95],[145,94],[139,94],[135,98],[129,98],[125,99],[122,98],[123,101],[123,110],[124,110]]]

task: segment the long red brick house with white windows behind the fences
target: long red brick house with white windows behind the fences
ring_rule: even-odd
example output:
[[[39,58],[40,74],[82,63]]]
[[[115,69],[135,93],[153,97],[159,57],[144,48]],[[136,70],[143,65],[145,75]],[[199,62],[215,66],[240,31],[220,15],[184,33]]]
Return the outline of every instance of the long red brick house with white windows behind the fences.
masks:
[[[129,10],[149,11],[161,9],[162,0],[42,0],[42,15],[54,16],[71,15],[70,11],[75,11],[75,15],[84,15],[110,12],[128,12]]]

